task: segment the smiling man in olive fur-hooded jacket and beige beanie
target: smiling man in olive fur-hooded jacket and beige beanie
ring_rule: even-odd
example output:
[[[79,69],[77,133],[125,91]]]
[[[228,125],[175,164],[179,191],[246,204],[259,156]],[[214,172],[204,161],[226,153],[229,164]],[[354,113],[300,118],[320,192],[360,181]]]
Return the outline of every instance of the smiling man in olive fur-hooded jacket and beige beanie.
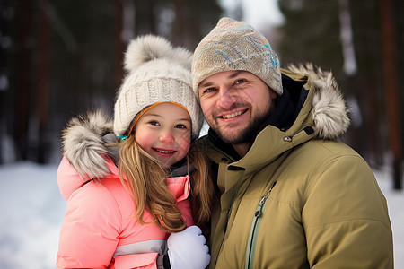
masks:
[[[332,74],[281,70],[268,40],[221,19],[198,44],[193,88],[217,170],[210,268],[392,268],[372,170],[337,142],[347,107]]]

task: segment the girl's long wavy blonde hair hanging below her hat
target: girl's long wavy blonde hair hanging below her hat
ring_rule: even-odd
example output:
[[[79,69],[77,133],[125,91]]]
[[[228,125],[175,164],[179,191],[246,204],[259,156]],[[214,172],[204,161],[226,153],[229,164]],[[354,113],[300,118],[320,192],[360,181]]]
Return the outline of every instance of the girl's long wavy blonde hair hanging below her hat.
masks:
[[[191,178],[190,202],[195,223],[206,227],[210,220],[210,206],[213,201],[214,186],[209,175],[209,164],[205,155],[191,145],[188,161],[195,168]],[[167,187],[169,171],[145,152],[136,143],[135,135],[119,143],[119,178],[132,195],[136,212],[133,217],[141,224],[154,222],[167,232],[178,232],[187,227],[177,206],[176,198]],[[152,221],[145,222],[145,210]]]

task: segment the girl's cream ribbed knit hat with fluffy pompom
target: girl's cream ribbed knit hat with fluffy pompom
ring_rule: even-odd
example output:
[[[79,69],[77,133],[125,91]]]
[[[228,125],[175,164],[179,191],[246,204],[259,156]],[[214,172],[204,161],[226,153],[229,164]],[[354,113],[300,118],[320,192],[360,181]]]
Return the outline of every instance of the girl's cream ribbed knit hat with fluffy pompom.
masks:
[[[125,77],[115,102],[114,133],[127,134],[136,114],[158,102],[187,108],[192,139],[198,137],[203,114],[192,91],[189,50],[172,47],[162,37],[145,35],[132,40],[125,54]]]

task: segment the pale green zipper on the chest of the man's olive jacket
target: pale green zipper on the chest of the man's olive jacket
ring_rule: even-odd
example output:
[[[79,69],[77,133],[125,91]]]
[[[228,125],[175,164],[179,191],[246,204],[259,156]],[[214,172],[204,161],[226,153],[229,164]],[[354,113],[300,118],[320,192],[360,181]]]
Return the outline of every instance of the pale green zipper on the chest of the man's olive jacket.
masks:
[[[249,235],[249,240],[248,240],[248,244],[247,244],[247,250],[246,250],[246,254],[245,254],[245,265],[244,265],[245,269],[252,268],[252,266],[254,265],[255,245],[257,243],[259,225],[262,220],[261,216],[264,212],[265,204],[267,204],[268,196],[270,195],[272,189],[275,187],[276,184],[277,184],[277,181],[275,181],[272,184],[272,186],[269,188],[267,194],[261,197],[261,199],[259,200],[257,209],[254,213],[254,218],[252,219],[251,228],[250,228],[250,235]]]

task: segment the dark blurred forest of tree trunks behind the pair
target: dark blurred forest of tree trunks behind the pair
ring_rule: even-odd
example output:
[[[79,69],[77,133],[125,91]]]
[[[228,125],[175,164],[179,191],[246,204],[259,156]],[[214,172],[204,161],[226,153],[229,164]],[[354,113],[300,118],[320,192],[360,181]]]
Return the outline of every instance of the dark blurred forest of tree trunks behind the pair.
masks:
[[[269,1],[269,0],[268,0]],[[230,1],[227,1],[230,3]],[[254,1],[250,1],[253,4]],[[331,70],[347,96],[344,141],[402,188],[404,1],[278,0],[284,20],[259,30],[281,65]],[[0,164],[57,163],[70,117],[113,113],[127,42],[160,34],[193,50],[241,1],[0,0]]]

